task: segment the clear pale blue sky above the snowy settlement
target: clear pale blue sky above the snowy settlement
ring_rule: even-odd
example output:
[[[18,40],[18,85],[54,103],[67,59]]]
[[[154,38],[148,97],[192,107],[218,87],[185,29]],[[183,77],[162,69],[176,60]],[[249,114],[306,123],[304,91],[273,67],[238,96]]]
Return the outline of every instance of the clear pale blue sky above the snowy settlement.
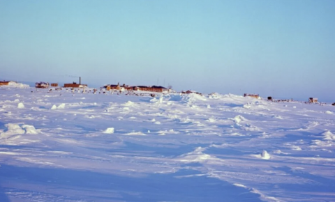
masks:
[[[335,102],[334,9],[332,0],[0,0],[0,79]]]

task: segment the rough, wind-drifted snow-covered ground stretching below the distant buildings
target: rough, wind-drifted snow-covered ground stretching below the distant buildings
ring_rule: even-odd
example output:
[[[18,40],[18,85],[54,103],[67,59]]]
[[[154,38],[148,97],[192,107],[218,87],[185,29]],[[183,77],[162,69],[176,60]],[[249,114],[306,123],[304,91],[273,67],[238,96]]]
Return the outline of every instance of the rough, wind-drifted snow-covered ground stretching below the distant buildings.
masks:
[[[0,88],[0,201],[335,201],[330,104],[99,92]]]

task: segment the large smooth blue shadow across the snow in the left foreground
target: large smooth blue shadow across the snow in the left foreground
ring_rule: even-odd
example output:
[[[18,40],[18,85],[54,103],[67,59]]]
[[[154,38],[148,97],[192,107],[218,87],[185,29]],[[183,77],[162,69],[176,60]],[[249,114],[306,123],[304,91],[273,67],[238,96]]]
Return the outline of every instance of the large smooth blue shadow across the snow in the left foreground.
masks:
[[[59,197],[84,201],[260,201],[258,194],[242,187],[198,174],[184,169],[177,173],[130,177],[3,165],[0,182],[6,180],[6,189],[11,194],[24,192],[35,199],[47,195],[50,201]],[[20,187],[15,187],[17,184]],[[8,200],[3,192],[0,196],[1,201]]]

